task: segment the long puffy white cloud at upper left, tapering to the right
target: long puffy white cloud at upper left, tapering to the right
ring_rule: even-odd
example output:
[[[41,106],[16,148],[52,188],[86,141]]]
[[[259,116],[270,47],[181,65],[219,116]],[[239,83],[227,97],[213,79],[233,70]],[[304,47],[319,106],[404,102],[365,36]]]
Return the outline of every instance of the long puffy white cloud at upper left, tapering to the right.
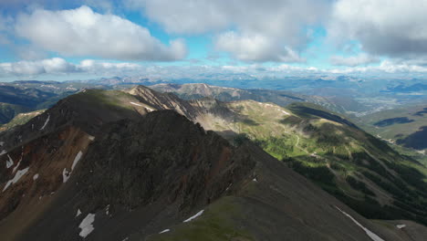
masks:
[[[163,45],[147,28],[120,16],[100,15],[86,5],[22,14],[16,20],[16,33],[36,46],[66,56],[172,61],[186,55],[182,39]]]

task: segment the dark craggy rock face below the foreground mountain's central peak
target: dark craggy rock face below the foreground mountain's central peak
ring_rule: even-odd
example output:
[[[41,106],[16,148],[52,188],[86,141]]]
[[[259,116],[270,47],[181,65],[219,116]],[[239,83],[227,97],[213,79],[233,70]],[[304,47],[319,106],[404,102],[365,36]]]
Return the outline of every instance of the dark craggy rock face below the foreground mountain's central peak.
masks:
[[[89,209],[106,204],[132,209],[167,200],[190,210],[213,202],[255,164],[213,131],[172,110],[115,122],[101,132],[77,175],[94,197]]]

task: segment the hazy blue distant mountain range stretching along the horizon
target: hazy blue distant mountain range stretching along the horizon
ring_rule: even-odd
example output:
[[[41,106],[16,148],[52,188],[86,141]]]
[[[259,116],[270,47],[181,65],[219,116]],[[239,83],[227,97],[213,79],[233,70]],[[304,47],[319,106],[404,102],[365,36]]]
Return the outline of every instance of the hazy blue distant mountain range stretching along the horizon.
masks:
[[[126,89],[135,85],[153,86],[158,84],[187,84],[205,83],[209,86],[221,86],[233,89],[283,91],[291,96],[305,96],[321,99],[318,104],[326,100],[331,110],[348,116],[363,116],[380,110],[398,108],[408,104],[421,104],[427,101],[427,79],[381,79],[356,78],[349,76],[308,76],[308,77],[275,77],[252,76],[240,74],[189,74],[185,79],[165,78],[161,75],[141,75],[131,77],[112,77],[90,80],[56,81],[16,81],[0,83],[0,86],[15,88],[38,89],[47,93],[60,95],[70,94],[84,88],[96,89]],[[181,90],[177,90],[179,92]],[[273,95],[275,95],[274,93]],[[60,100],[65,96],[55,99]],[[185,98],[182,96],[182,98]],[[0,96],[0,102],[5,102]],[[8,103],[8,102],[7,102]],[[50,103],[49,106],[51,106]],[[46,108],[47,105],[44,106]],[[0,120],[1,121],[1,120]]]

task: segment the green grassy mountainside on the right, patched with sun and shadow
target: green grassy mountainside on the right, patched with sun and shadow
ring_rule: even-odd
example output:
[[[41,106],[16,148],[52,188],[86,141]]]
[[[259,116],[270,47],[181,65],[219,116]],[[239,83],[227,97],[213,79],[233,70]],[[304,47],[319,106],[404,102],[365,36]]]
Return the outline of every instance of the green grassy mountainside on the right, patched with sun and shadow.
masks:
[[[425,167],[345,118],[307,103],[287,109],[252,100],[227,105],[245,118],[227,127],[217,123],[218,130],[245,133],[362,215],[427,222]]]

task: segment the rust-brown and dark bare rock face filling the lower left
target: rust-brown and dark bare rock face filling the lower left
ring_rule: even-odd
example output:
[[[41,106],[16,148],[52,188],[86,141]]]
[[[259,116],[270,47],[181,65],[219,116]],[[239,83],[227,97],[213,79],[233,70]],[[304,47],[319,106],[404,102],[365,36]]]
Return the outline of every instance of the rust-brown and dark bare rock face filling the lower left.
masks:
[[[250,179],[255,166],[247,151],[172,110],[110,122],[97,132],[90,136],[66,125],[26,143],[25,152],[11,152],[23,156],[19,169],[30,172],[0,198],[0,214],[12,216],[0,223],[0,230],[9,229],[5,237],[73,240],[76,213],[104,213],[107,206],[108,215],[99,217],[102,229],[120,221],[145,236],[213,203],[232,183]],[[10,231],[32,209],[41,210]],[[145,216],[139,222],[135,211]],[[103,232],[98,237],[109,238]]]

